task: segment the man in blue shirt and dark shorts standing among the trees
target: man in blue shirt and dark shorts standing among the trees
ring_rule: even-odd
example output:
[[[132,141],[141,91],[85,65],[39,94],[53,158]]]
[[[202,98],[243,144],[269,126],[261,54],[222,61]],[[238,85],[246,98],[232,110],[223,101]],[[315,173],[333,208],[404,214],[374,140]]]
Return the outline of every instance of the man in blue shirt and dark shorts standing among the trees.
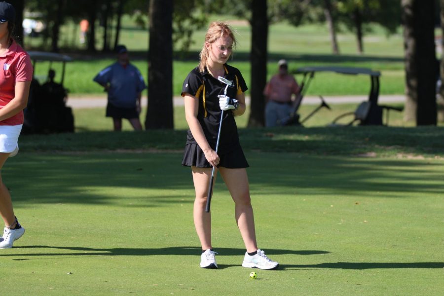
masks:
[[[140,71],[129,62],[124,45],[117,45],[117,62],[94,77],[108,92],[107,117],[112,117],[114,131],[122,130],[122,118],[129,120],[135,130],[142,130],[139,119],[142,91],[147,88]]]

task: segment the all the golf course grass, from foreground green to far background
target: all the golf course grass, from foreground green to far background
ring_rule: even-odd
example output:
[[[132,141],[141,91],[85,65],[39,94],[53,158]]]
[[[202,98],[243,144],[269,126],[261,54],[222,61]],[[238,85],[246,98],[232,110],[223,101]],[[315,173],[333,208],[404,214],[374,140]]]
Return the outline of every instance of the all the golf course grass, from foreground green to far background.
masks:
[[[234,25],[241,46],[233,65],[249,84],[250,32],[245,22]],[[63,30],[61,42],[78,42],[74,26]],[[122,33],[146,77],[147,32],[125,18]],[[197,64],[202,34],[194,34],[190,56],[174,62],[175,95]],[[400,35],[386,39],[376,28],[365,39],[366,55],[357,56],[354,37],[341,33],[339,57],[330,55],[321,26],[276,24],[269,37],[268,76],[280,58],[288,59],[291,69],[368,67],[382,71],[382,94],[404,92]],[[66,78],[71,94],[103,94],[92,77],[113,58],[73,56],[78,58],[67,66]],[[47,67],[38,64],[37,76]],[[320,74],[308,94],[367,94],[369,87],[368,77]],[[303,104],[301,117],[315,107]],[[4,291],[443,295],[444,130],[408,127],[397,112],[390,114],[390,127],[325,126],[355,108],[332,105],[305,127],[247,129],[248,112],[236,118],[251,165],[259,247],[281,263],[277,271],[256,270],[254,281],[248,277],[251,270],[240,267],[245,250],[221,178],[212,201],[220,268],[198,267],[194,190],[189,169],[180,165],[187,128],[183,107],[174,110],[174,130],[132,132],[124,121],[123,132],[112,132],[111,119],[97,108],[74,109],[74,134],[22,135],[20,153],[2,168],[15,213],[26,227],[13,249],[0,252],[3,277],[20,283],[5,280]]]

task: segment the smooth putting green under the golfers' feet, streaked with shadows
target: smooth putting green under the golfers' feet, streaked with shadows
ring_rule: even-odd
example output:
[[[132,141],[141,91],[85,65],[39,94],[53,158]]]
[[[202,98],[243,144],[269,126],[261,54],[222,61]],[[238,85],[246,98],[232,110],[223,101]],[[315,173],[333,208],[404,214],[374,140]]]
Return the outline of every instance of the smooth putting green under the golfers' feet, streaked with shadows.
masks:
[[[199,268],[181,152],[32,152],[2,170],[26,228],[0,250],[8,295],[443,295],[444,161],[248,151],[259,248],[241,267],[228,191],[212,200],[219,270]],[[258,279],[251,280],[251,271]]]

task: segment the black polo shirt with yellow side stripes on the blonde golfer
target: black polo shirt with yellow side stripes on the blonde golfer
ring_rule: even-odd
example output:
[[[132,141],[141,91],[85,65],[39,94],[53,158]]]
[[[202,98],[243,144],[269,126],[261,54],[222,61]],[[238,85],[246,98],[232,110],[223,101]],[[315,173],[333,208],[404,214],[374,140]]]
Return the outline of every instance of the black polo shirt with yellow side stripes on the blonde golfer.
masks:
[[[248,89],[247,84],[239,70],[227,64],[224,65],[224,68],[225,75],[223,77],[233,82],[233,85],[228,87],[226,95],[234,99],[237,94]],[[216,149],[222,113],[218,95],[223,95],[225,86],[226,84],[209,74],[206,68],[204,72],[200,72],[196,67],[186,76],[182,87],[183,97],[188,93],[199,99],[197,120],[199,120],[205,138],[213,149]],[[197,144],[190,130],[188,130],[186,144]],[[224,111],[218,153],[230,152],[238,145],[239,135],[233,112],[231,110]]]

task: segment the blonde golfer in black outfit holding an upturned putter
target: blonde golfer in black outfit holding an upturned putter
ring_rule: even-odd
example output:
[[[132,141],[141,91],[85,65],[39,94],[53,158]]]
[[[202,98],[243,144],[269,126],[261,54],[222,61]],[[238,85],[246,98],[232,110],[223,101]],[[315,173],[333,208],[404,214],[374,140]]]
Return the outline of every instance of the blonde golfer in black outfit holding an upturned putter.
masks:
[[[275,269],[278,263],[265,256],[256,243],[253,208],[246,168],[249,166],[239,144],[234,116],[245,112],[247,85],[242,74],[226,64],[236,45],[231,28],[222,22],[210,24],[200,52],[200,64],[186,77],[182,89],[185,117],[189,126],[182,165],[190,166],[195,188],[194,225],[202,245],[200,267],[217,268],[211,241],[211,215],[205,212],[212,166],[217,167],[235,204],[235,219],[247,252],[242,266]],[[232,82],[224,96],[226,84]],[[219,123],[220,144],[216,153]]]

